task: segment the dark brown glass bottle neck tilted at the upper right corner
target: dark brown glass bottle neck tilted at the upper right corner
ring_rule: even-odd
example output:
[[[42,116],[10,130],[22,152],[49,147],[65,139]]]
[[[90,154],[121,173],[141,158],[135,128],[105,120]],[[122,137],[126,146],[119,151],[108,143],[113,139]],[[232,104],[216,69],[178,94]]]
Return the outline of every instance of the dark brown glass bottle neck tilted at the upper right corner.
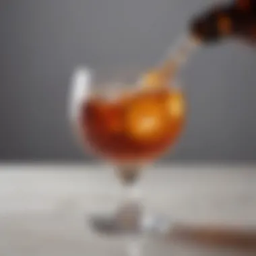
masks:
[[[193,18],[190,30],[203,43],[226,38],[256,42],[256,0],[236,0],[210,7]]]

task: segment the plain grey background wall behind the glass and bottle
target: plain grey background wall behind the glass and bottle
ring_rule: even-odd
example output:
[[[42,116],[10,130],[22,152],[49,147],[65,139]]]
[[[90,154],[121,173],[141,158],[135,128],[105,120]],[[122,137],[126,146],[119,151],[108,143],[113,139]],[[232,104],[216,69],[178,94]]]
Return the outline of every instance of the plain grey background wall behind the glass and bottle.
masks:
[[[85,159],[65,115],[73,67],[152,65],[212,2],[2,0],[1,160]],[[187,129],[165,159],[255,160],[255,49],[204,48],[190,64],[183,75]]]

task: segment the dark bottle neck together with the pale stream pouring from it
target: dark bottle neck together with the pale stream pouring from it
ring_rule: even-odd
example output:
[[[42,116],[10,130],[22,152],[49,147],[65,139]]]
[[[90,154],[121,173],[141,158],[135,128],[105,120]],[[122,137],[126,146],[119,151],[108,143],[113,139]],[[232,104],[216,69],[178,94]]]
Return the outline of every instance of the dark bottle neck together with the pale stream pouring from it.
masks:
[[[160,65],[143,75],[142,84],[153,88],[168,84],[197,49],[226,39],[256,43],[256,0],[230,1],[195,15],[185,36],[171,45]]]

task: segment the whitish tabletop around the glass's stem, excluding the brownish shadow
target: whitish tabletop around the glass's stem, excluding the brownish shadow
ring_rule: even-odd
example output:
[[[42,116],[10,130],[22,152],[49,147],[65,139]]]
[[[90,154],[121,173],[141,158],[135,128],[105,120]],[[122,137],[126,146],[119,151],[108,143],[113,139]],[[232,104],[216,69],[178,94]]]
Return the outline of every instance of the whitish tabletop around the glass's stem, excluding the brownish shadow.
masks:
[[[121,199],[110,167],[2,164],[0,170],[1,256],[125,255],[118,238],[86,226],[85,216]],[[188,224],[256,228],[256,166],[152,166],[139,186],[150,212]]]

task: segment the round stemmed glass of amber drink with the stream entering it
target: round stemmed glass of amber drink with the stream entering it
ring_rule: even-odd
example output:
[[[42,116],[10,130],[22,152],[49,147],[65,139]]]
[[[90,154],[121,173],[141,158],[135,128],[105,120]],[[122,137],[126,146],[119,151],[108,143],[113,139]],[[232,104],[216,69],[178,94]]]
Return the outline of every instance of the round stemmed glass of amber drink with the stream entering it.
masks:
[[[174,73],[192,48],[191,40],[182,40],[174,58],[168,57],[160,69],[145,75],[132,74],[129,69],[123,69],[125,75],[75,69],[69,95],[75,134],[88,152],[113,165],[125,189],[123,202],[113,216],[90,218],[94,231],[164,234],[170,228],[168,220],[143,209],[135,184],[142,170],[173,147],[183,131],[185,95],[174,82]],[[129,250],[136,254],[137,245],[130,244]]]

